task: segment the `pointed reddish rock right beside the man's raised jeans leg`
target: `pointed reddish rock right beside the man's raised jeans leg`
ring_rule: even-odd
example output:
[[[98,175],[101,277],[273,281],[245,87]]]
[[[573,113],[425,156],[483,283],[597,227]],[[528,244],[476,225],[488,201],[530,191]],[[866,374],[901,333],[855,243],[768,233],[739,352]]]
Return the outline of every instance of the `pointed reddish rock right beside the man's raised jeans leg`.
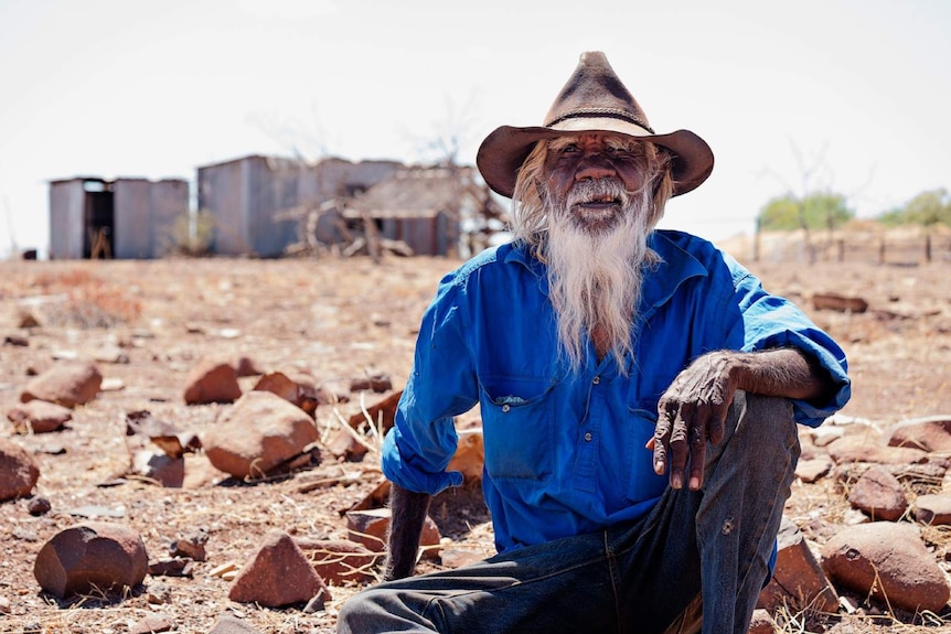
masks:
[[[821,612],[834,613],[838,608],[838,595],[799,527],[783,517],[777,541],[776,568],[769,583],[759,593],[756,606],[772,612],[783,604],[799,609],[809,605]]]

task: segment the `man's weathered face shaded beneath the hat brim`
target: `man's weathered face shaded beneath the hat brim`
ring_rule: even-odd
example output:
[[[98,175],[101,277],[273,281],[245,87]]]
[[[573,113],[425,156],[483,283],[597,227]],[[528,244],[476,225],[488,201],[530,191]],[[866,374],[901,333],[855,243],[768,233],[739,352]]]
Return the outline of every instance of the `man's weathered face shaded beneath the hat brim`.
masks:
[[[551,141],[544,174],[556,208],[578,228],[599,233],[619,225],[630,195],[644,185],[647,169],[643,143],[594,132]]]

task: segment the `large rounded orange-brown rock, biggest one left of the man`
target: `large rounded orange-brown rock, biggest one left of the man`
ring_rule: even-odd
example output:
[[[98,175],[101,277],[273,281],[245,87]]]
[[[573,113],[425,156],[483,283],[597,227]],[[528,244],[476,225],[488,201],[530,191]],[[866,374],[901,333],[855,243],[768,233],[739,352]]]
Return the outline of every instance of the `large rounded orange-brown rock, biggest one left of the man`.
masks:
[[[317,441],[313,419],[269,391],[249,391],[202,437],[211,463],[235,477],[260,477]]]

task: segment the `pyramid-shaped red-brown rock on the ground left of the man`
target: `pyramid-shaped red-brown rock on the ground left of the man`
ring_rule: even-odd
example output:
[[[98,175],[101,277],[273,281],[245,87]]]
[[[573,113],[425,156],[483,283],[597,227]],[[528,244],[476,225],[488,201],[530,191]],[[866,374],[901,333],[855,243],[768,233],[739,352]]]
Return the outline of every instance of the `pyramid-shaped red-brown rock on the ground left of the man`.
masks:
[[[242,568],[228,591],[228,599],[280,608],[309,601],[321,591],[327,592],[327,587],[303,551],[290,535],[273,530]]]

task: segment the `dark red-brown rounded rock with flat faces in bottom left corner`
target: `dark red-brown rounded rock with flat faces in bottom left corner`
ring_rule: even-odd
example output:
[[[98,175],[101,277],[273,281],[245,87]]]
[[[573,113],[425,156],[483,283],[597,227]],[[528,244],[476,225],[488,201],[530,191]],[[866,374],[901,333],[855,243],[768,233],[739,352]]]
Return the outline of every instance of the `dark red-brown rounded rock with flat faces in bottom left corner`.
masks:
[[[146,578],[149,557],[139,534],[121,524],[89,522],[61,530],[43,545],[33,576],[63,599],[98,588],[133,588]]]

